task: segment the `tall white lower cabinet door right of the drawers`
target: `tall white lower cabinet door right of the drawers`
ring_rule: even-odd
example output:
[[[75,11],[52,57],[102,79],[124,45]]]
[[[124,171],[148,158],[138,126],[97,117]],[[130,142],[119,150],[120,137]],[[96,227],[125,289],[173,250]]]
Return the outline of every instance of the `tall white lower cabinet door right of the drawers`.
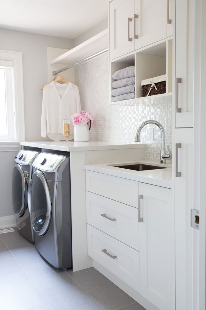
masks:
[[[172,190],[139,183],[140,294],[160,310],[172,309],[174,261]]]

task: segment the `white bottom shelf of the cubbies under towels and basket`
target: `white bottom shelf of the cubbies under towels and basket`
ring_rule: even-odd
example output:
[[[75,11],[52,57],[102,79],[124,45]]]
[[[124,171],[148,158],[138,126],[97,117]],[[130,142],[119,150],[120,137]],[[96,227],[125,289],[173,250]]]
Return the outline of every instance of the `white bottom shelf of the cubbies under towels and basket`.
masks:
[[[171,93],[165,93],[165,94],[160,94],[160,95],[153,95],[153,96],[148,96],[148,97],[140,97],[140,98],[135,98],[135,99],[129,99],[129,100],[122,100],[122,101],[116,101],[116,102],[111,102],[111,105],[135,105],[135,106],[147,106],[147,105],[152,105],[153,99],[155,98],[162,98],[162,97],[170,97],[172,96]]]

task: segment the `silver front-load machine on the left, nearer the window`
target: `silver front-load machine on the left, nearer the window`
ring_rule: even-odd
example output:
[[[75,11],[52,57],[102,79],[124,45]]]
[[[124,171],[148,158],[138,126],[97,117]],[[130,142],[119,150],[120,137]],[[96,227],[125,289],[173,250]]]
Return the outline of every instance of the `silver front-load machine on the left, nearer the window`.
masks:
[[[27,191],[32,179],[32,162],[38,154],[36,151],[20,150],[14,158],[12,173],[12,205],[16,225],[19,232],[31,242],[34,242],[34,232],[27,206]]]

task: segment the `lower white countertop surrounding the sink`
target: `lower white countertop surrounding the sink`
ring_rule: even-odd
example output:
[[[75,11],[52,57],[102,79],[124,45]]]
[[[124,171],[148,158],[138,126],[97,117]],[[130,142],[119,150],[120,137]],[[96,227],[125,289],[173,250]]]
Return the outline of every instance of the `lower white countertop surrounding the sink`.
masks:
[[[108,166],[111,164],[124,164],[124,163],[126,164],[128,162],[89,164],[89,165],[84,165],[84,169],[104,173],[107,175],[114,175],[114,176],[124,178],[124,179],[130,179],[130,180],[158,185],[158,186],[162,186],[166,188],[172,188],[172,166],[171,165],[164,165],[168,167],[164,169],[154,169],[154,170],[144,170],[144,171],[135,171],[135,170]],[[162,166],[161,164],[157,162],[148,161],[148,160],[139,160],[137,162],[130,162],[130,163],[142,163],[142,164],[152,164],[152,165]]]

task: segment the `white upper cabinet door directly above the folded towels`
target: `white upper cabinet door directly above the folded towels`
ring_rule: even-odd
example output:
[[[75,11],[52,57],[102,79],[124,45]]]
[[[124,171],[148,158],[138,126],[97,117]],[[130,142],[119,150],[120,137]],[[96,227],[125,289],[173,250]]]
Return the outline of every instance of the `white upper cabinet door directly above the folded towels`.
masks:
[[[109,4],[110,59],[134,51],[134,0]]]

